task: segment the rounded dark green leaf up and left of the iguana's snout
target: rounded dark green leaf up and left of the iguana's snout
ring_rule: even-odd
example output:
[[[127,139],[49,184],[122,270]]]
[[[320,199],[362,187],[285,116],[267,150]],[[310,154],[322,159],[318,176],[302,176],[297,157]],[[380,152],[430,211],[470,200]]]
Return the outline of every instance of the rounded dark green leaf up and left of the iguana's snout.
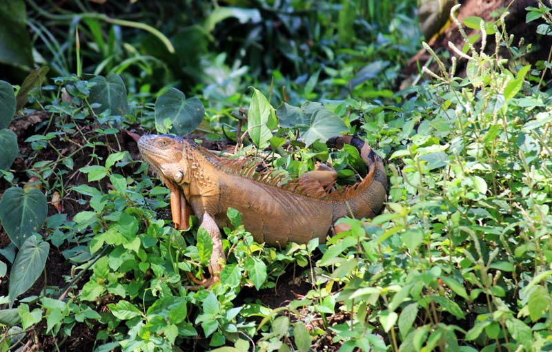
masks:
[[[118,74],[110,73],[107,77],[95,76],[90,81],[96,83],[90,88],[88,97],[91,104],[99,104],[98,107],[92,108],[95,114],[100,114],[106,109],[110,109],[112,115],[126,114],[128,110],[126,87]]]

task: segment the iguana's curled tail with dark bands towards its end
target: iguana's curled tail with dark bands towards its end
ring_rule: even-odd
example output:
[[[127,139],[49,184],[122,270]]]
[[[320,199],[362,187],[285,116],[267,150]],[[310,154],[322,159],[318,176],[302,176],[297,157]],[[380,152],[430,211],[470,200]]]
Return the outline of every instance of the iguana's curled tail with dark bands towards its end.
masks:
[[[354,218],[373,218],[380,214],[387,200],[388,179],[382,158],[375,154],[368,144],[353,136],[337,136],[330,138],[328,147],[342,148],[344,144],[353,145],[358,149],[362,160],[366,163],[368,174],[356,185],[344,191],[330,194],[333,198],[333,219],[344,216]]]

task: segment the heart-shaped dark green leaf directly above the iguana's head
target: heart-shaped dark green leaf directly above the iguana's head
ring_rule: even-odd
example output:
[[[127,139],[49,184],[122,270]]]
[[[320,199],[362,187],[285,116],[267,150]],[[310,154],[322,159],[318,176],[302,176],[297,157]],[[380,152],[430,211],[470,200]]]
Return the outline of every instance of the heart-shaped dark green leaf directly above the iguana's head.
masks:
[[[155,101],[155,124],[161,130],[166,118],[170,120],[170,132],[183,136],[195,130],[203,120],[205,107],[197,98],[186,99],[176,88],[170,88]]]

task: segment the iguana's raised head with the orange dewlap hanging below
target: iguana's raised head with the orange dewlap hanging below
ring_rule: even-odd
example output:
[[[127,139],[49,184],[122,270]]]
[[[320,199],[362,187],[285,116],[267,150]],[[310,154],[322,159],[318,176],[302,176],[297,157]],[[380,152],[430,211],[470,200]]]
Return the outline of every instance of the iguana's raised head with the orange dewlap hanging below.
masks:
[[[170,189],[172,222],[175,222],[177,229],[188,228],[188,217],[191,211],[181,188],[188,176],[182,162],[184,143],[186,143],[184,138],[166,134],[148,134],[138,140],[138,149],[142,158]]]

